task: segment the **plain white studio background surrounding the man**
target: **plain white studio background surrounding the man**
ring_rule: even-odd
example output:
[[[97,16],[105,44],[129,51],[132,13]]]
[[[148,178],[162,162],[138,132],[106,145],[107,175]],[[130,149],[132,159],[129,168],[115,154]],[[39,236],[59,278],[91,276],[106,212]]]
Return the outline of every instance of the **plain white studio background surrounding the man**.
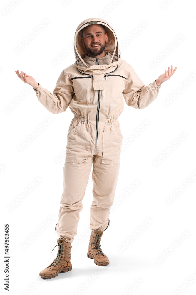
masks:
[[[195,294],[193,2],[172,0],[163,5],[164,0],[64,3],[15,0],[15,3],[1,1],[1,290],[5,278],[4,224],[8,223],[9,294]],[[157,99],[147,108],[134,109],[124,101],[119,122],[125,148],[121,152],[115,207],[101,242],[110,264],[99,267],[87,258],[89,208],[93,201],[90,176],[71,249],[73,269],[43,280],[39,272],[53,261],[58,251],[56,247],[51,253],[57,245],[55,225],[63,190],[66,135],[73,113],[69,108],[58,115],[48,112],[33,88],[21,81],[15,70],[33,76],[53,92],[61,71],[75,63],[71,43],[78,24],[91,17],[111,24],[118,37],[121,58],[133,66],[145,85],[171,65],[177,66],[177,70],[161,85]],[[33,30],[44,20],[48,24],[34,34]],[[143,29],[142,23],[145,23]],[[133,31],[137,32],[135,37]],[[17,52],[19,44],[29,35],[33,39]],[[131,41],[126,43],[129,37]],[[61,51],[68,48],[70,52],[54,65]],[[164,56],[165,50],[168,54]],[[22,99],[18,99],[21,95]],[[50,124],[20,151],[19,145],[47,118],[51,119]],[[147,127],[143,127],[144,121],[149,122]],[[184,137],[180,137],[181,133]],[[127,144],[131,136],[134,140]],[[166,155],[168,148],[170,153]],[[62,160],[57,163],[61,154]],[[155,164],[158,157],[160,161]],[[40,183],[27,193],[26,188],[33,186],[36,178],[41,179]],[[139,184],[132,189],[134,181]],[[13,202],[24,192],[26,197],[13,207]],[[167,204],[173,194],[173,201]],[[151,220],[149,225],[145,225],[147,219]],[[142,232],[138,232],[140,226]],[[38,235],[32,240],[36,231]],[[31,242],[25,245],[28,239]],[[173,250],[169,253],[170,247]],[[140,283],[135,285],[136,281]]]

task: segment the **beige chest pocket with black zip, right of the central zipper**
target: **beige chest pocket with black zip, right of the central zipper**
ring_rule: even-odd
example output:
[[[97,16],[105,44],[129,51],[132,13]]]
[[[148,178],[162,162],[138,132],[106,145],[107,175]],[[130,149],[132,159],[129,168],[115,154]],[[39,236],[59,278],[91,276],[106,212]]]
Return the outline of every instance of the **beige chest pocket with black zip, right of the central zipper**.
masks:
[[[123,97],[126,79],[121,75],[105,74],[105,97]]]

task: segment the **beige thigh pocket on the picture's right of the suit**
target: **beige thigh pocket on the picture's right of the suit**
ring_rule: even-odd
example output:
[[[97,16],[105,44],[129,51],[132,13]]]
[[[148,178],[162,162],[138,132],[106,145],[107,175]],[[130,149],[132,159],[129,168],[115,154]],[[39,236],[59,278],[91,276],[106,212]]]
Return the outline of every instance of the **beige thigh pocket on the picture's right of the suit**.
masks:
[[[103,150],[101,163],[116,165],[120,163],[123,136],[116,128],[105,127],[103,130]]]

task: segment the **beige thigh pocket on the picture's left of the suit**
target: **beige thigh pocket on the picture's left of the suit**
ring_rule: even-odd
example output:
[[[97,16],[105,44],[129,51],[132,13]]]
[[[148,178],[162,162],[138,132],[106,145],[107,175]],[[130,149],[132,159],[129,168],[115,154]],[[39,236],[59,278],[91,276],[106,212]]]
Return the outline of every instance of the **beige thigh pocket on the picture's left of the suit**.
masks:
[[[76,126],[67,135],[65,161],[69,163],[86,163],[89,154],[90,128]]]

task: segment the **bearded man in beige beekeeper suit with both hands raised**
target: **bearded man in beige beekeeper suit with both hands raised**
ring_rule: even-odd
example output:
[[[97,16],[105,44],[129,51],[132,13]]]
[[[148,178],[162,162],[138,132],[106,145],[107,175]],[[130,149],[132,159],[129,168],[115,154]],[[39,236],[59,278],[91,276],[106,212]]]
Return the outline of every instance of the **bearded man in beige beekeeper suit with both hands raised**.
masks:
[[[58,114],[69,106],[74,114],[67,134],[64,189],[56,224],[58,254],[39,273],[42,278],[54,278],[72,269],[71,243],[77,234],[92,163],[93,203],[87,256],[97,265],[109,264],[100,248],[100,240],[109,225],[119,173],[123,136],[118,117],[124,109],[123,96],[128,106],[147,107],[158,96],[161,84],[177,68],[169,67],[157,80],[145,86],[132,66],[121,59],[118,39],[111,25],[99,18],[86,19],[78,26],[74,52],[76,62],[61,72],[53,94],[33,77],[16,71],[19,78],[33,86],[38,100],[49,112]]]

